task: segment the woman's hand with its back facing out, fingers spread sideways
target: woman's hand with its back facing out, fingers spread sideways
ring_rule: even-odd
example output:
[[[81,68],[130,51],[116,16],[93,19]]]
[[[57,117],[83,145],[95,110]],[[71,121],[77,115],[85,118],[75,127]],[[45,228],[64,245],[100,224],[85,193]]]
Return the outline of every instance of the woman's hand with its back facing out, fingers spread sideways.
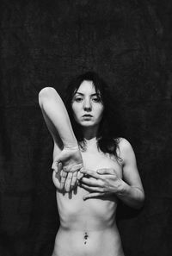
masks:
[[[83,200],[107,194],[118,194],[122,190],[124,181],[118,177],[112,168],[103,168],[96,172],[82,168],[80,172],[83,173],[83,178],[79,185],[85,190],[89,190],[89,194],[84,196]]]

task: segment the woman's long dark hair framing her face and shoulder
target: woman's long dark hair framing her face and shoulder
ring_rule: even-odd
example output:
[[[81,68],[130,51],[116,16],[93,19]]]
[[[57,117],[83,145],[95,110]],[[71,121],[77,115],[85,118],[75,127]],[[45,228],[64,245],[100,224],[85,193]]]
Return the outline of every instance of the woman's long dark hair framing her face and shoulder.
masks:
[[[95,91],[97,95],[101,96],[101,103],[104,106],[103,116],[96,135],[97,147],[100,148],[102,152],[114,154],[114,156],[118,158],[116,150],[119,144],[121,130],[117,104],[105,81],[95,72],[85,72],[73,78],[66,90],[65,106],[70,116],[71,125],[77,141],[84,150],[86,143],[83,138],[83,131],[81,126],[75,121],[71,109],[72,98],[84,80],[92,81],[95,86]]]

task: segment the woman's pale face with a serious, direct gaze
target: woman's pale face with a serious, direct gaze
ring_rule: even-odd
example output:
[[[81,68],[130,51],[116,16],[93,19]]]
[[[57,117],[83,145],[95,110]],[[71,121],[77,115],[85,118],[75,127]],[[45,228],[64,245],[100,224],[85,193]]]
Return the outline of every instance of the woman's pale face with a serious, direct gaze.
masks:
[[[76,91],[71,102],[73,116],[83,127],[98,127],[102,114],[103,104],[98,97],[92,81],[83,81]]]

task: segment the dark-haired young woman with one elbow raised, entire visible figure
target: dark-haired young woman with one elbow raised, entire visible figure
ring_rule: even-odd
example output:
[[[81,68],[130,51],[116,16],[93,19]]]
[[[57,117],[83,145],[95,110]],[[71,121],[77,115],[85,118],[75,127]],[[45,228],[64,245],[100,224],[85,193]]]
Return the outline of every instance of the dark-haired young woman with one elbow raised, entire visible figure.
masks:
[[[115,222],[118,198],[136,209],[144,203],[135,154],[119,137],[114,102],[95,72],[74,79],[67,96],[66,110],[52,87],[39,94],[54,141],[60,227],[52,256],[124,256]]]

